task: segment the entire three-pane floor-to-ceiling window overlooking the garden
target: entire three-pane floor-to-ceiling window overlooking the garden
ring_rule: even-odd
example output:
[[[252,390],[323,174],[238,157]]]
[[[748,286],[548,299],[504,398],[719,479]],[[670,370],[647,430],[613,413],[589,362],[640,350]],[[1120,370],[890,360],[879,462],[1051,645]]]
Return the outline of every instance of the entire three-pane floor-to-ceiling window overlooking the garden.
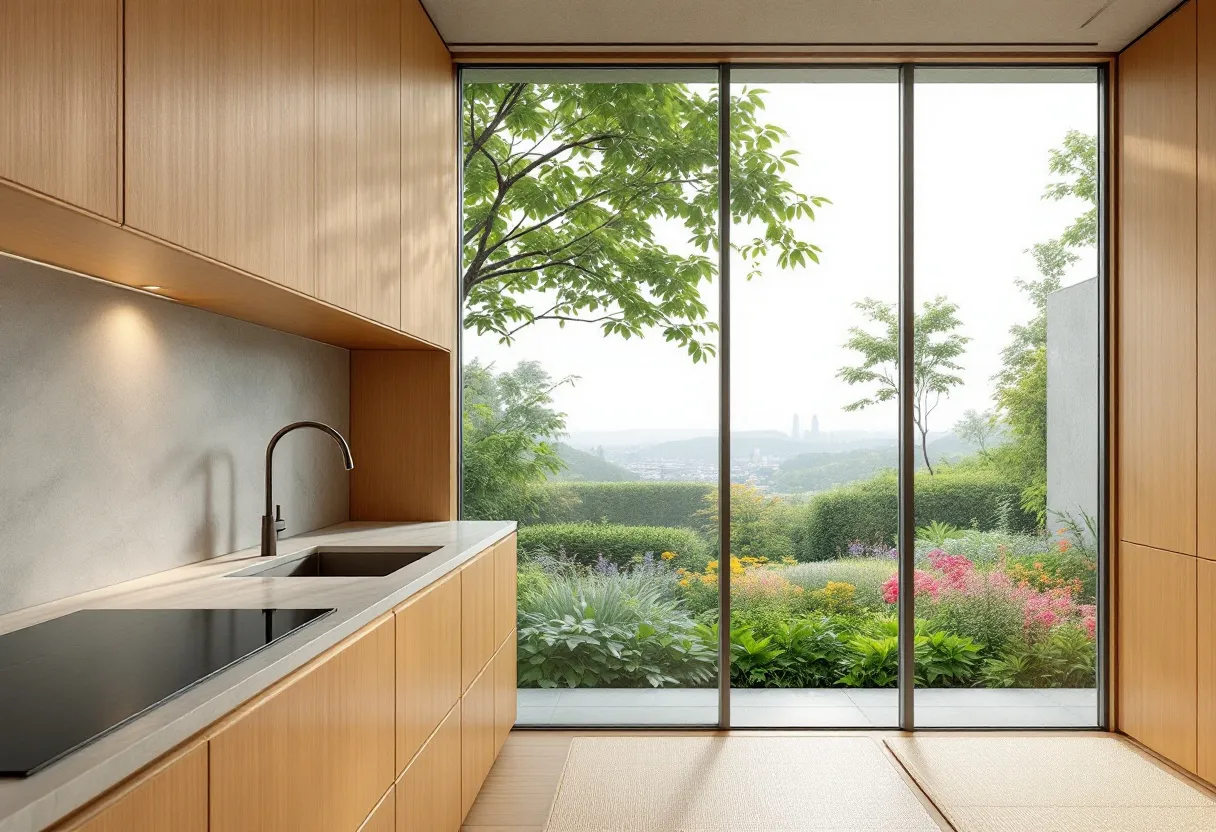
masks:
[[[461,111],[520,725],[894,727],[901,646],[903,725],[1098,724],[1098,71],[478,67]]]

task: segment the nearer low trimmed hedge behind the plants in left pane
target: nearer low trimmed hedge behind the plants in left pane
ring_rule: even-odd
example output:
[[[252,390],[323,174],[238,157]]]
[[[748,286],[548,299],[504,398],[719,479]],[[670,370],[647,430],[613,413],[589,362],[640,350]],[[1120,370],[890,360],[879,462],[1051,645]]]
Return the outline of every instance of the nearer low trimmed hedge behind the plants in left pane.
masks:
[[[635,556],[675,552],[676,566],[700,570],[709,562],[709,546],[692,529],[662,525],[619,525],[617,523],[550,523],[519,528],[522,552],[565,552],[579,563],[592,564],[603,555],[618,566],[629,566]]]

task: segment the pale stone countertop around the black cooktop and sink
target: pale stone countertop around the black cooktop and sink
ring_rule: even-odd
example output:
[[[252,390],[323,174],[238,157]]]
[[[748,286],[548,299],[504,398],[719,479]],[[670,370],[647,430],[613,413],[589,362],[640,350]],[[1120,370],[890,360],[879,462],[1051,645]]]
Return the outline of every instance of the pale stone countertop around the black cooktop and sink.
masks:
[[[326,546],[441,549],[385,578],[226,578],[271,562],[254,547],[0,615],[2,634],[90,608],[334,608],[38,774],[0,777],[0,832],[34,832],[62,820],[514,528],[482,521],[343,523],[280,540],[276,561]]]

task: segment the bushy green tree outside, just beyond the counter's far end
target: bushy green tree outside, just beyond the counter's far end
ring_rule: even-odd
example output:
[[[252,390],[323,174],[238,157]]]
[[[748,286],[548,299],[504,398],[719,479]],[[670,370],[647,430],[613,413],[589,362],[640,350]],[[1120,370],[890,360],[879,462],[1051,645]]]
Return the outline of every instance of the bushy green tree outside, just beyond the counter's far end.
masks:
[[[465,365],[465,513],[514,519],[530,513],[537,485],[563,467],[553,443],[565,414],[553,410],[553,390],[574,376],[550,378],[537,361],[495,373],[492,365]]]

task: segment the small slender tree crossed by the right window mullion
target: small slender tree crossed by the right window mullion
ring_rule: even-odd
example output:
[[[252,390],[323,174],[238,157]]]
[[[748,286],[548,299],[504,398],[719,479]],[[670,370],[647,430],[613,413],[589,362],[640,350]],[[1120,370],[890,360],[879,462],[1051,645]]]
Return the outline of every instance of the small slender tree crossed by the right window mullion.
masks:
[[[861,353],[861,364],[855,367],[840,367],[837,377],[850,384],[874,384],[873,393],[845,405],[846,411],[862,410],[883,401],[895,399],[900,393],[900,319],[895,304],[866,298],[854,304],[865,313],[871,324],[877,324],[877,333],[855,326],[849,330],[845,349]],[[963,383],[956,371],[962,370],[958,359],[967,352],[967,336],[956,330],[962,326],[958,319],[958,305],[938,296],[925,300],[922,311],[914,320],[914,350],[912,361],[913,400],[912,418],[921,434],[921,454],[924,467],[933,473],[929,462],[928,435],[929,417],[950,395],[950,389]]]

